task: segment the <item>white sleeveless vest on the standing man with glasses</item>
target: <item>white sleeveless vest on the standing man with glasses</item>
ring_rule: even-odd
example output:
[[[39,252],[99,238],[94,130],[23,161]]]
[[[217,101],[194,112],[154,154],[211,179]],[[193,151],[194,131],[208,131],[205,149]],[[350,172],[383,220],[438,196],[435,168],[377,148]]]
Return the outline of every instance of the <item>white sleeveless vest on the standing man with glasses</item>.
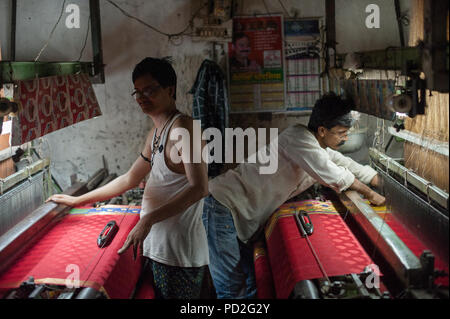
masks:
[[[160,145],[164,145],[164,148],[170,128],[180,115],[177,114],[162,132]],[[167,167],[164,153],[165,149],[161,152],[158,150],[154,155],[142,199],[141,217],[164,205],[189,185],[186,175],[175,173]],[[184,212],[154,224],[144,241],[144,256],[178,267],[201,267],[209,264],[202,212],[203,199]]]

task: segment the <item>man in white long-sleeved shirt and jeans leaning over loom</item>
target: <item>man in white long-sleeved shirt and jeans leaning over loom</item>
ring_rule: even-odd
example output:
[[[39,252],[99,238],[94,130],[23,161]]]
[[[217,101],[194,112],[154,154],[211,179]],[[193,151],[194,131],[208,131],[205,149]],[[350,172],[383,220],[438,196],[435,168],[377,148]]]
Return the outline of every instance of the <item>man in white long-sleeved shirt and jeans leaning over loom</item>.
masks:
[[[336,151],[352,126],[350,107],[350,101],[327,94],[316,102],[308,127],[291,126],[261,148],[265,155],[275,150],[275,173],[261,174],[261,164],[242,163],[210,180],[203,222],[218,298],[256,296],[249,243],[280,205],[314,183],[336,192],[356,190],[371,203],[384,204],[384,197],[366,185],[378,185],[376,171]]]

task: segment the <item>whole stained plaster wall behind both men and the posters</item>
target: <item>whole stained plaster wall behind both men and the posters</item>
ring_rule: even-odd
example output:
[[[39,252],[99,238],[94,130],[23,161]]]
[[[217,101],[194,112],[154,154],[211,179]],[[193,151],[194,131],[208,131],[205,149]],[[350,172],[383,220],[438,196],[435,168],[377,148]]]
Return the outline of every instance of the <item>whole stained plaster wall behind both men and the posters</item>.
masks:
[[[401,1],[404,10],[409,0]],[[32,61],[47,42],[62,9],[62,0],[18,0],[16,60]],[[166,33],[183,30],[192,14],[201,6],[200,0],[115,0],[131,15]],[[275,0],[238,0],[237,14],[253,15],[281,13],[285,16],[324,17],[325,1],[282,0],[284,8]],[[367,29],[364,19],[369,3],[380,6],[381,28]],[[88,2],[66,0],[65,5],[80,8],[79,29],[68,29],[63,14],[53,37],[41,54],[40,61],[78,60],[86,37],[87,45],[81,60],[92,60],[91,38],[87,33]],[[10,0],[0,0],[0,44],[4,59],[10,56]],[[63,188],[70,185],[70,176],[77,174],[87,180],[102,167],[105,156],[111,173],[125,173],[144,147],[146,135],[152,127],[130,96],[133,85],[131,72],[146,56],[172,56],[178,75],[178,108],[191,114],[192,87],[201,62],[211,58],[211,44],[194,42],[190,37],[172,39],[124,16],[108,1],[100,1],[105,84],[94,85],[103,115],[51,133],[35,141],[39,152],[52,160],[52,174]],[[336,32],[338,52],[382,49],[399,46],[393,2],[390,0],[336,0]],[[407,32],[407,30],[406,30]],[[374,127],[375,119],[367,119]],[[232,115],[234,127],[278,127],[282,131],[290,124],[308,122],[308,116],[296,114]],[[368,141],[371,140],[369,130]],[[370,144],[370,142],[368,142]],[[359,157],[358,157],[359,156]],[[366,153],[356,155],[366,161]]]

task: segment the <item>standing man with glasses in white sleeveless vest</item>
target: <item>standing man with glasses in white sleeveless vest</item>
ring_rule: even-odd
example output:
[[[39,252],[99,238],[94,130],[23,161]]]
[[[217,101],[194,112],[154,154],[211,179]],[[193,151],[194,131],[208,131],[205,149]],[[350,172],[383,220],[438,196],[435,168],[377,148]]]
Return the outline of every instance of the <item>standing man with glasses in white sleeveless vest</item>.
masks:
[[[207,166],[192,160],[194,152],[201,152],[194,143],[190,141],[189,152],[181,152],[169,138],[177,128],[192,137],[193,120],[176,108],[177,77],[167,60],[145,58],[136,65],[132,80],[132,95],[154,123],[140,156],[127,173],[105,186],[79,197],[53,195],[49,200],[68,206],[103,201],[137,187],[150,174],[140,221],[118,253],[133,246],[136,256],[140,250],[152,271],[157,297],[208,298],[209,256],[202,224]],[[185,145],[181,148],[184,151]],[[179,158],[172,156],[173,151]]]

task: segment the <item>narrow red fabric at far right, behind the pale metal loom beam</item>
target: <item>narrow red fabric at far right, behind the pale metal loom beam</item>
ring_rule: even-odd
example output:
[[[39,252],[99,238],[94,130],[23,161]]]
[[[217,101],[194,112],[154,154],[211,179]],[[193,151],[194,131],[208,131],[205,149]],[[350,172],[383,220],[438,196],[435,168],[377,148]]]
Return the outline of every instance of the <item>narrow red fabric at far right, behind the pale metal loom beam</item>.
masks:
[[[369,203],[369,202],[367,202]],[[394,216],[389,213],[385,206],[372,207],[378,215],[384,219],[387,225],[397,234],[397,236],[405,243],[405,245],[411,250],[411,252],[420,258],[420,255],[424,250],[430,250],[427,248],[416,236],[403,226]],[[434,268],[448,272],[448,264],[445,264],[441,259],[435,256]],[[438,277],[435,280],[435,284],[448,287],[448,275],[445,277]]]

